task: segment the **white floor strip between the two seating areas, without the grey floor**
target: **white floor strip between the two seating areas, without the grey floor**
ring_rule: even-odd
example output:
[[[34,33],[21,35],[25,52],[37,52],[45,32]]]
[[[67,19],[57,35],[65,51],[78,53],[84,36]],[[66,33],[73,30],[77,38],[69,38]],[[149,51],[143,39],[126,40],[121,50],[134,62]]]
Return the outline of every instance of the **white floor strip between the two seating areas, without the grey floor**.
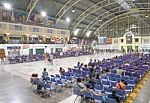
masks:
[[[56,74],[56,73],[59,73],[60,67],[63,67],[65,70],[67,70],[68,67],[73,67],[73,66],[77,65],[78,61],[87,64],[89,62],[89,59],[102,60],[103,58],[112,58],[116,55],[120,55],[120,54],[104,53],[103,55],[95,54],[95,55],[89,55],[89,56],[55,59],[53,65],[51,65],[49,62],[45,62],[45,61],[7,64],[7,65],[1,65],[0,69],[4,69],[8,72],[11,72],[15,75],[18,75],[18,76],[24,78],[26,80],[29,80],[30,75],[32,73],[38,73],[39,75],[41,75],[43,68],[47,68],[49,74]]]

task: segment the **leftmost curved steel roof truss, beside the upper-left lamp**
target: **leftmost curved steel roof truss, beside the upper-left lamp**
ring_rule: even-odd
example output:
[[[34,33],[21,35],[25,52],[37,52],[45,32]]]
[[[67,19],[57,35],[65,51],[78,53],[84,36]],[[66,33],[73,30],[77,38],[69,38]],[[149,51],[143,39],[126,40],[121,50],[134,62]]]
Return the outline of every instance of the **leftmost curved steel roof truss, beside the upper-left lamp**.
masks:
[[[34,7],[36,6],[36,4],[38,3],[39,0],[30,0],[28,6],[27,6],[27,9],[26,9],[26,12],[28,12],[28,15],[27,15],[27,18],[26,18],[26,21],[29,20],[29,17],[34,9]]]

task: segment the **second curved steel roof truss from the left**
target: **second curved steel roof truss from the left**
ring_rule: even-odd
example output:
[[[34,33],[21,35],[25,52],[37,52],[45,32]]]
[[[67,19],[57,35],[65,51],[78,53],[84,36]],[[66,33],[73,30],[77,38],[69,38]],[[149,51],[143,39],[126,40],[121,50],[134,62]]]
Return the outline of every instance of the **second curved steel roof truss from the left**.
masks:
[[[55,18],[57,18],[56,23],[59,22],[59,20],[62,18],[62,16],[74,5],[76,5],[81,0],[69,0],[62,8],[59,10],[59,12],[56,14]]]

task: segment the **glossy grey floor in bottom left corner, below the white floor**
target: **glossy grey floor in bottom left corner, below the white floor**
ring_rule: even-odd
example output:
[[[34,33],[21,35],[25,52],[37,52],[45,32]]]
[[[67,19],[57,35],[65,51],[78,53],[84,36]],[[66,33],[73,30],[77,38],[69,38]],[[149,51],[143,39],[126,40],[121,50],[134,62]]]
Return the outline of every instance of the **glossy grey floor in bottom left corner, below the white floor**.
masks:
[[[53,93],[53,98],[42,98],[30,90],[29,81],[0,70],[0,103],[58,103],[71,95],[71,89],[62,93]]]

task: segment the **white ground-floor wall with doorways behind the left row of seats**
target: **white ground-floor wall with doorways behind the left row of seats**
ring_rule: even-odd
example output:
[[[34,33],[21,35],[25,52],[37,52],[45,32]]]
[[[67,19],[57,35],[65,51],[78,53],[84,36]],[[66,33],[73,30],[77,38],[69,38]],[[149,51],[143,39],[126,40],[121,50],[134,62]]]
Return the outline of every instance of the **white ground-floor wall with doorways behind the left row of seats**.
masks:
[[[43,51],[44,53],[55,53],[57,50],[67,51],[70,48],[77,48],[77,44],[0,44],[0,48],[5,50],[6,56],[10,55],[10,52],[18,53],[19,55],[36,54],[37,51]],[[31,53],[32,52],[32,53]],[[16,55],[18,55],[16,54]]]

